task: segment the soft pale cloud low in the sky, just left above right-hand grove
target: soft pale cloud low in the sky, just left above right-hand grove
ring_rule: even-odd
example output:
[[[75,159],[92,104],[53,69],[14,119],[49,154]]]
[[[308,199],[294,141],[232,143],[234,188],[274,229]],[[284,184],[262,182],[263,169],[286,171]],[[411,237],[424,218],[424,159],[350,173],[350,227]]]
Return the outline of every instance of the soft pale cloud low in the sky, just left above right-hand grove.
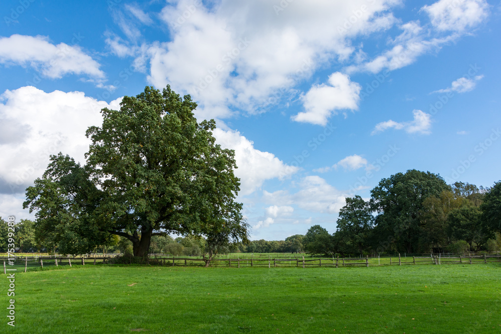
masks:
[[[273,193],[263,191],[263,198],[274,205],[296,205],[312,212],[337,213],[345,205],[346,194],[319,176],[305,177],[299,191],[291,194],[286,190]]]

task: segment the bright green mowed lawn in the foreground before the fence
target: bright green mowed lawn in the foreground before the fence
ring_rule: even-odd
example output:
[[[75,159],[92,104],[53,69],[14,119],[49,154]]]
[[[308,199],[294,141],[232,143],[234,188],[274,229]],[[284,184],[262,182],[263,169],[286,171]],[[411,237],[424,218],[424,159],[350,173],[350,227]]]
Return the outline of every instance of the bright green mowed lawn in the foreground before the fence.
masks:
[[[1,332],[501,332],[501,265],[86,265],[16,274]],[[9,328],[8,328],[9,327]]]

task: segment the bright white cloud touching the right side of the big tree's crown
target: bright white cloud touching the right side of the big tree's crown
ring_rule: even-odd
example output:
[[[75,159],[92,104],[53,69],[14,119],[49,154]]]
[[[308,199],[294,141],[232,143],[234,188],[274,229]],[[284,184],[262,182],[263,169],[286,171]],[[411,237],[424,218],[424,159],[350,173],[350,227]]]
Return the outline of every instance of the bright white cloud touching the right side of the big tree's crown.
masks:
[[[254,143],[237,131],[216,128],[213,135],[222,148],[235,150],[238,166],[235,175],[240,178],[241,195],[256,191],[266,180],[283,178],[299,171],[298,167],[285,164],[274,154],[255,149]]]

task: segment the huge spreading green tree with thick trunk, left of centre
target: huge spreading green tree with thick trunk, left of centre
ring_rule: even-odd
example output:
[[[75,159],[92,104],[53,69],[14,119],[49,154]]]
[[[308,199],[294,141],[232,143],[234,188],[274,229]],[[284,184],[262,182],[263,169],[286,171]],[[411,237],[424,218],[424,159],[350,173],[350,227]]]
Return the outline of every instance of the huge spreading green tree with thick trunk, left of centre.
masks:
[[[84,253],[110,234],[146,256],[151,237],[203,235],[209,252],[247,241],[248,225],[235,202],[234,152],[215,144],[213,120],[197,123],[196,103],[169,86],[125,96],[119,111],[103,109],[101,127],[80,166],[61,153],[27,189],[25,208],[37,211],[36,232],[61,253]]]

